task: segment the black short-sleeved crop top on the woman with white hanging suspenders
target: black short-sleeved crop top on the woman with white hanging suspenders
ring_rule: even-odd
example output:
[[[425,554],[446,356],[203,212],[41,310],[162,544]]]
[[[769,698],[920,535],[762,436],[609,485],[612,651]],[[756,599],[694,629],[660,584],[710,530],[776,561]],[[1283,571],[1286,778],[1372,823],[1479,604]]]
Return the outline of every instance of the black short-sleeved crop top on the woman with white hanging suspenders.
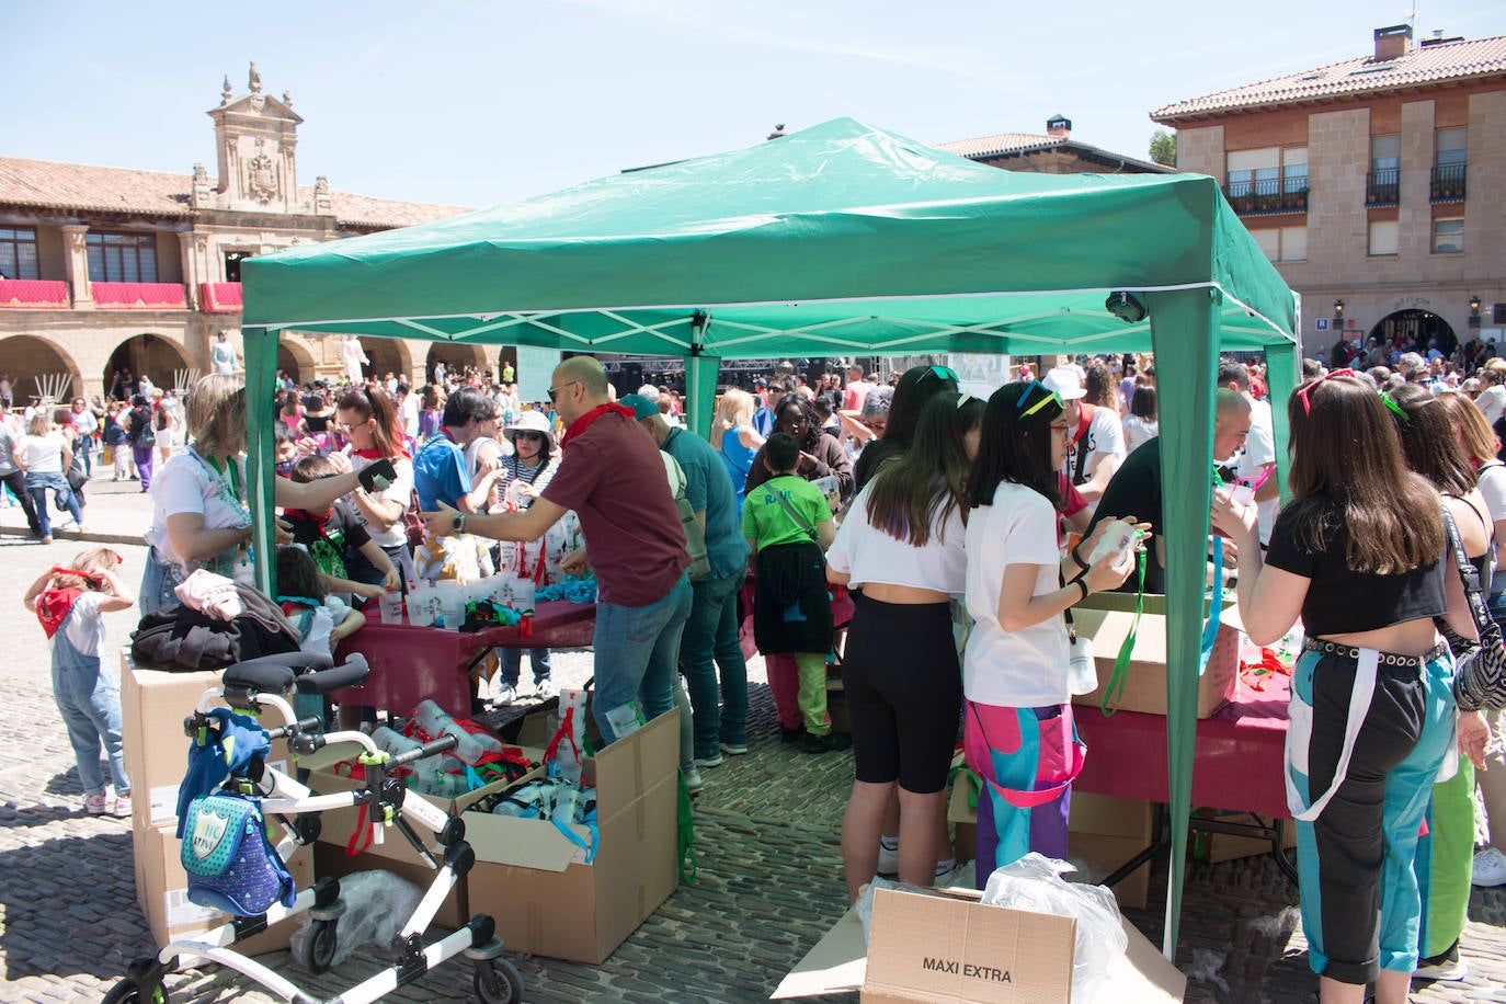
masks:
[[[1438,519],[1443,519],[1441,510]],[[1271,567],[1312,580],[1303,599],[1303,629],[1309,637],[1376,631],[1449,611],[1443,577],[1452,566],[1441,554],[1399,575],[1351,572],[1345,558],[1349,531],[1337,506],[1330,509],[1328,521],[1333,528],[1325,536],[1327,546],[1309,552],[1297,537],[1292,509],[1283,509],[1265,551],[1265,563]]]

